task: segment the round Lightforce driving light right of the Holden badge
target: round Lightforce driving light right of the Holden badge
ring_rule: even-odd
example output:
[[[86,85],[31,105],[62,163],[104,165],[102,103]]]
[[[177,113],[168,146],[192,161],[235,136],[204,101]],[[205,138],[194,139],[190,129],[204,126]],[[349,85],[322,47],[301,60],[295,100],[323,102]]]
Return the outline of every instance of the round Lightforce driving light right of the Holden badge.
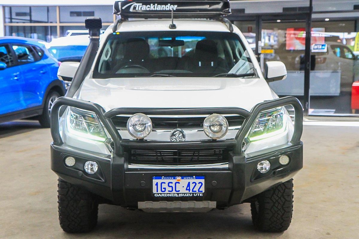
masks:
[[[228,121],[222,115],[212,114],[204,120],[203,129],[211,139],[220,139],[228,132]]]

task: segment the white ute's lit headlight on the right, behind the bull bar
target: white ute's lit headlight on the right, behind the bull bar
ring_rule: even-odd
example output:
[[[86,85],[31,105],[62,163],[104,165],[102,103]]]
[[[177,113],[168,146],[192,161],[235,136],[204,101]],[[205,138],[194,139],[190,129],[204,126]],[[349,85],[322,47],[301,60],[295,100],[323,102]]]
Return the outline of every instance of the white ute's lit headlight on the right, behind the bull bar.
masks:
[[[253,142],[283,133],[286,130],[287,123],[284,116],[284,107],[261,113],[247,138]]]

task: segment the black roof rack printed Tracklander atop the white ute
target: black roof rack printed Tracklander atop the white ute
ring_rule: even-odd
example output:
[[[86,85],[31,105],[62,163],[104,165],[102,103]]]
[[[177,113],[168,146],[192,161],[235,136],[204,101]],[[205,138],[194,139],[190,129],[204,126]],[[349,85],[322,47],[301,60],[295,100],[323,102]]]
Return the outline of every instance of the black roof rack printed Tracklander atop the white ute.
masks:
[[[229,0],[116,1],[113,14],[121,18],[217,18],[230,14]]]

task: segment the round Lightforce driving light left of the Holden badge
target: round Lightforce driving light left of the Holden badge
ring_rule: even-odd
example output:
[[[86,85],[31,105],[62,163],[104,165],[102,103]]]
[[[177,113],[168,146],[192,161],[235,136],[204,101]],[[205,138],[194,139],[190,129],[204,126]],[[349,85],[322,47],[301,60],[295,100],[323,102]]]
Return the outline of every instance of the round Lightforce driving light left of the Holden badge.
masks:
[[[127,120],[127,130],[136,139],[143,139],[147,137],[152,131],[151,119],[141,113],[132,115]]]

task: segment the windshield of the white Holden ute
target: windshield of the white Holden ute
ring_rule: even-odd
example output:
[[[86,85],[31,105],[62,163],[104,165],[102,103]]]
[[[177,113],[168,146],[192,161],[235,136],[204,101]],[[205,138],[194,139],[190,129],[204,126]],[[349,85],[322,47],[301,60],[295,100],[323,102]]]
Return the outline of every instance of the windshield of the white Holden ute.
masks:
[[[94,78],[256,77],[239,36],[229,32],[117,32],[99,54]],[[246,75],[243,75],[246,74]]]

